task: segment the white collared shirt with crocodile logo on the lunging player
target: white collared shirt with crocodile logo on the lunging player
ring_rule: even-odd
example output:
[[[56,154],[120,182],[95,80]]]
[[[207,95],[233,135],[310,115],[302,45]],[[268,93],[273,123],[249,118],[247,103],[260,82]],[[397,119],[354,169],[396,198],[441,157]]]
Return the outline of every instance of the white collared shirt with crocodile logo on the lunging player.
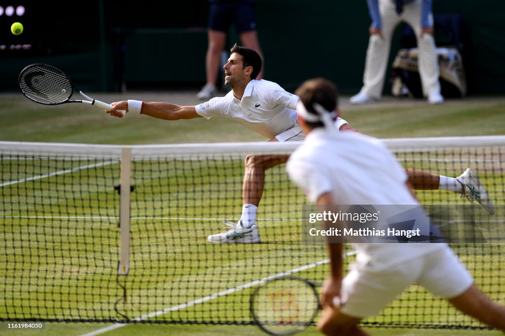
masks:
[[[227,117],[272,139],[296,124],[295,106],[298,96],[286,92],[278,84],[265,80],[251,80],[245,87],[242,100],[228,92],[195,107],[196,113],[210,119]]]

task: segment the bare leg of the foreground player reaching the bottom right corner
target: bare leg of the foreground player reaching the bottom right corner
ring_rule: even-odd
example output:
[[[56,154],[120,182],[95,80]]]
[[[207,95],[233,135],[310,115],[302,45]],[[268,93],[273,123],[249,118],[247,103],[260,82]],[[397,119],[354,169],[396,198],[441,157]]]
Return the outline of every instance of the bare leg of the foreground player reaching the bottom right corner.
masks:
[[[505,331],[505,307],[489,299],[475,285],[448,301],[465,314]]]

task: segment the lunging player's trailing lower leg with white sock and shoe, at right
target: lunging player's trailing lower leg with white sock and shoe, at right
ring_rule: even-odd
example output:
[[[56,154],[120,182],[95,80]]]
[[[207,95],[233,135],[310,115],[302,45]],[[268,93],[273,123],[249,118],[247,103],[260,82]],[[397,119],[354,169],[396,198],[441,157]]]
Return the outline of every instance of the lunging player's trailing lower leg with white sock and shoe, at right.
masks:
[[[475,172],[468,168],[460,176],[453,178],[429,173],[422,169],[405,169],[409,175],[409,183],[416,190],[448,190],[461,194],[473,204],[478,201],[489,215],[494,215],[494,206],[486,188],[480,182]]]

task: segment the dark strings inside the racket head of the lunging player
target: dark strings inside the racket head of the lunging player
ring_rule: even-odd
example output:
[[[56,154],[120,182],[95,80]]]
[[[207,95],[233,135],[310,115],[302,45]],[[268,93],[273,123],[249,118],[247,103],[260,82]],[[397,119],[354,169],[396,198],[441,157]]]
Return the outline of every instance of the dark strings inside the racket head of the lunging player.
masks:
[[[72,96],[72,83],[65,74],[49,66],[31,66],[19,81],[23,94],[42,104],[59,104]]]

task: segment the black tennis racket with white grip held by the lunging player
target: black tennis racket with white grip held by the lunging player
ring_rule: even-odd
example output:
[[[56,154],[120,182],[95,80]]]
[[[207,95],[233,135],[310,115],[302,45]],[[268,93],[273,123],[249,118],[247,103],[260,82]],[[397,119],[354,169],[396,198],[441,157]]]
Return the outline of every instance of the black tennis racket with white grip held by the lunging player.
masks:
[[[18,84],[28,99],[39,104],[86,103],[104,110],[112,110],[112,105],[95,100],[77,89],[67,75],[52,65],[43,63],[28,65],[19,74]],[[70,100],[74,89],[88,100]],[[124,110],[121,112],[125,114]]]

